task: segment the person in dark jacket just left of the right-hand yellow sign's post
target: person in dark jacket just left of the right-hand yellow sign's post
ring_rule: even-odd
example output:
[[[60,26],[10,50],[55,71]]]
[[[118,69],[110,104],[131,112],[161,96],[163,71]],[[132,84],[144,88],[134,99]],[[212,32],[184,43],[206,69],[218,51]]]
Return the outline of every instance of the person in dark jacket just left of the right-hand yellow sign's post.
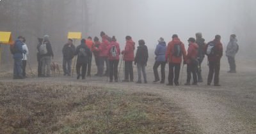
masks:
[[[62,49],[63,54],[63,71],[64,76],[68,75],[71,76],[71,65],[72,65],[72,59],[74,55],[76,54],[76,47],[73,45],[73,40],[68,39],[68,43],[64,45]]]

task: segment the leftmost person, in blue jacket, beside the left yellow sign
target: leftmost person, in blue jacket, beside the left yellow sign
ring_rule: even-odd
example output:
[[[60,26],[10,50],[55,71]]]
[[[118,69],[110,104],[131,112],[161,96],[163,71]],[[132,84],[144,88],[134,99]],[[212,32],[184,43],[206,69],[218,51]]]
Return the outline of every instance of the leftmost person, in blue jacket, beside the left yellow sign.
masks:
[[[26,54],[26,50],[22,49],[23,40],[24,38],[22,36],[19,36],[13,46],[13,49],[14,49],[13,79],[24,78],[22,76],[22,58],[23,58],[23,54]]]

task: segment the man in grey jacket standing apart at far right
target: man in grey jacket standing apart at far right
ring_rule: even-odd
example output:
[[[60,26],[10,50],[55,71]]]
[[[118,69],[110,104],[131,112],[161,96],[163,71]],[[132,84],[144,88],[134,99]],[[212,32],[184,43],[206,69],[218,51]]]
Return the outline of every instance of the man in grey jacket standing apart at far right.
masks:
[[[239,50],[239,45],[237,44],[236,34],[230,35],[230,41],[227,45],[226,56],[228,57],[228,63],[230,66],[230,71],[228,73],[236,73],[236,60],[235,56]]]

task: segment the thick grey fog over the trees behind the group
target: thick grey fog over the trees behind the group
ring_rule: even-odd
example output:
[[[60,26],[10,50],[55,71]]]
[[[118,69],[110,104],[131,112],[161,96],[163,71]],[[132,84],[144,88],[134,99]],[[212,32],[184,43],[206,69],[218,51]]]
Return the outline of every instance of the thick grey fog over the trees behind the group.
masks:
[[[105,31],[115,35],[122,48],[125,36],[131,35],[136,42],[144,39],[152,50],[159,37],[168,42],[172,34],[179,34],[188,44],[186,40],[197,32],[206,41],[220,34],[225,48],[234,33],[241,55],[251,57],[256,48],[255,5],[254,0],[2,0],[0,31],[12,31],[13,38],[26,36],[34,51],[36,38],[49,34],[57,59],[61,59],[68,31],[80,31],[83,38]],[[10,57],[6,46],[3,48],[2,65]],[[36,60],[35,54],[31,52],[31,61]]]

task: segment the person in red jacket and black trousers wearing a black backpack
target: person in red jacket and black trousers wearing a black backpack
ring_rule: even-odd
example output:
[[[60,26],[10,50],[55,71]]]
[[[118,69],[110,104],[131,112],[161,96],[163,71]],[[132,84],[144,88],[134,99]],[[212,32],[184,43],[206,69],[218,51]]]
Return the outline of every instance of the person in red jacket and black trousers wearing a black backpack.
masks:
[[[172,41],[168,43],[168,47],[165,54],[166,62],[169,62],[169,75],[167,86],[173,86],[173,71],[175,71],[174,84],[179,86],[180,64],[182,63],[182,57],[186,61],[186,49],[184,43],[180,41],[177,34],[173,34]]]

